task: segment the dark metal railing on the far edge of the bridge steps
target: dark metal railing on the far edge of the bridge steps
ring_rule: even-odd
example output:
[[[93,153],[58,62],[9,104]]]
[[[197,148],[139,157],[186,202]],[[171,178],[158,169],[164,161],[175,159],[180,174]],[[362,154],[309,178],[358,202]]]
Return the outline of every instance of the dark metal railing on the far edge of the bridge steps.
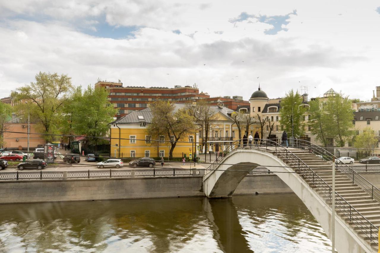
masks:
[[[290,139],[293,141],[296,147],[308,151],[309,153],[314,153],[322,156],[322,159],[329,161],[330,163],[336,163],[336,168],[350,180],[352,183],[355,183],[367,194],[371,196],[372,199],[380,203],[380,189],[365,179],[361,174],[359,174],[355,168],[351,168],[348,164],[345,164],[344,161],[339,160],[338,157],[332,153],[325,150],[323,147],[315,145],[309,141],[300,140],[300,139]],[[366,167],[367,168],[367,167]]]

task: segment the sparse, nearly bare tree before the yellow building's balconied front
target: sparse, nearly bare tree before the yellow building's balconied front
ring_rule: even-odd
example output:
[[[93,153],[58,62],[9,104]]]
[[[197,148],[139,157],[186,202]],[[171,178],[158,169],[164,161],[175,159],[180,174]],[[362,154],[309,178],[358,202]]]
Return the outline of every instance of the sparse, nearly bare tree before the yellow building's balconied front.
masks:
[[[213,107],[206,103],[206,100],[199,100],[195,105],[189,105],[188,111],[195,118],[196,122],[201,125],[202,133],[204,132],[202,138],[204,153],[207,153],[207,136],[209,136],[212,125],[218,119],[218,115],[213,110]]]

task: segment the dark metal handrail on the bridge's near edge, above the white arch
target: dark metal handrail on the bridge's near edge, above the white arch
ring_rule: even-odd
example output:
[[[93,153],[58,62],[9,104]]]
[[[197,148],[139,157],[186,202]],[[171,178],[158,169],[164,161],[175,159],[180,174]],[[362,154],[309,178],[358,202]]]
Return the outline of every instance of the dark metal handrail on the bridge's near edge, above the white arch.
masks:
[[[237,140],[235,142],[238,142],[238,141],[241,141],[241,140]],[[269,141],[269,145],[268,145],[268,141]],[[264,143],[264,145],[262,145]],[[231,150],[233,150],[233,145],[237,145],[237,147],[241,147],[242,145],[239,143],[239,144],[231,144]],[[267,140],[267,139],[259,139],[259,143],[257,144],[253,144],[253,145],[250,145],[249,147],[266,147],[266,150],[268,150],[268,146],[270,147],[275,147],[275,150],[274,153],[276,153],[277,155],[279,155],[280,157],[286,159],[288,162],[290,162],[290,164],[294,164],[294,161],[298,161],[298,170],[302,172],[301,174],[301,177],[305,180],[305,177],[313,183],[313,185],[315,187],[317,187],[321,194],[325,195],[325,197],[327,199],[329,199],[330,201],[332,201],[332,187],[325,181],[323,180],[318,174],[317,172],[313,171],[312,168],[310,168],[309,166],[307,166],[306,163],[304,163],[304,161],[302,161],[299,157],[297,157],[297,155],[295,155],[293,152],[291,152],[290,150],[288,150],[286,147],[283,147],[283,146],[279,146],[277,144],[277,142],[274,142],[274,141],[271,141],[271,140]],[[285,155],[283,153],[279,153],[277,152],[277,149],[284,149],[285,150]],[[290,153],[290,155],[288,155],[288,153]],[[232,154],[230,154],[232,155]],[[289,160],[289,158],[291,158]],[[294,159],[295,158],[295,159]],[[300,163],[303,163],[305,167],[301,167]],[[213,163],[212,165],[216,165],[216,161],[215,163]],[[210,166],[211,167],[211,166]],[[209,167],[209,168],[210,168]],[[295,166],[297,167],[297,166]],[[311,171],[311,172],[310,172]],[[363,189],[364,190],[364,189]],[[328,191],[328,194],[327,194],[327,191]],[[335,195],[334,196],[337,196],[339,198],[334,198],[336,201],[338,200],[340,205],[336,205],[336,208],[339,209],[343,215],[345,215],[347,218],[350,219],[351,223],[353,223],[356,228],[358,228],[359,230],[361,230],[363,232],[363,234],[365,235],[368,235],[368,232],[366,231],[366,228],[369,228],[369,237],[370,237],[370,241],[372,242],[375,242],[376,239],[372,239],[373,238],[376,238],[376,235],[377,235],[377,231],[378,231],[378,228],[373,224],[371,223],[366,217],[364,217],[358,210],[355,209],[355,207],[351,206],[350,203],[348,203],[348,201],[346,201],[339,193],[337,193],[335,191]],[[344,208],[346,207],[346,208]],[[358,217],[365,220],[367,222],[364,223],[364,221],[362,220],[358,220]],[[363,226],[363,228],[361,228],[361,226]],[[373,228],[373,229],[372,229]],[[372,236],[372,231],[375,233],[375,236]],[[378,242],[377,242],[378,243]]]

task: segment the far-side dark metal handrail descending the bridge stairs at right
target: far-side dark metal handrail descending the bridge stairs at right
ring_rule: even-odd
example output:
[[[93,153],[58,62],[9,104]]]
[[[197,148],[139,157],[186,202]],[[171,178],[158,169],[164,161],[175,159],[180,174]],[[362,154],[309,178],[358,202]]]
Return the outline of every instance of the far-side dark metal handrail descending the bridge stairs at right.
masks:
[[[333,155],[332,153],[328,152],[327,150],[323,149],[323,147],[320,147],[320,146],[318,146],[316,144],[313,144],[313,143],[311,143],[309,141],[305,141],[305,140],[301,140],[301,139],[291,139],[291,140],[298,142],[298,146],[296,145],[298,148],[304,148],[304,147],[306,147],[306,148],[309,149],[309,152],[311,152],[312,149],[317,148],[317,153],[321,154],[318,151],[318,149],[322,149],[323,150],[322,157],[323,157],[323,154],[327,153],[328,156],[332,158],[332,161],[331,161],[332,163],[335,162],[334,159],[336,159],[337,161],[340,161],[339,158],[337,158],[335,155]],[[304,146],[302,146],[302,145],[300,145],[301,141],[304,142],[304,143],[307,142],[307,144],[304,144]],[[313,150],[313,153],[315,153],[315,150]],[[350,179],[350,176],[351,176],[351,173],[352,173],[352,182],[353,183],[355,183],[355,176],[356,176],[356,180],[361,183],[361,184],[360,183],[356,183],[356,185],[358,185],[362,189],[363,189],[363,187],[361,187],[361,185],[366,186],[367,188],[363,189],[363,190],[366,191],[366,192],[367,192],[367,190],[371,191],[370,193],[368,193],[368,192],[367,193],[370,194],[370,196],[371,196],[372,199],[375,199],[377,202],[380,203],[380,189],[377,188],[375,185],[373,185],[371,182],[369,182],[367,179],[365,179],[363,176],[361,176],[360,174],[358,174],[358,172],[356,172],[353,168],[351,168],[347,164],[343,163],[342,161],[340,161],[340,162],[341,162],[341,164],[336,163],[337,169],[340,172],[342,172],[342,174],[344,174],[345,176],[347,176],[348,179]],[[342,166],[344,168],[342,168],[340,166]],[[351,172],[350,173],[346,173],[345,172],[346,170],[351,171]],[[348,176],[348,174],[350,176]]]

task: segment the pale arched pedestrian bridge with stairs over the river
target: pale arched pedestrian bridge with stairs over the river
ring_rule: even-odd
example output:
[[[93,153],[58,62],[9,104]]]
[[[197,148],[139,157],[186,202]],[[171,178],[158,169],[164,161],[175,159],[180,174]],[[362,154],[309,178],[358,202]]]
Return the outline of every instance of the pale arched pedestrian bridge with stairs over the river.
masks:
[[[318,152],[323,152],[323,158],[315,155]],[[231,197],[249,171],[268,166],[304,202],[331,239],[332,162],[326,161],[327,151],[318,152],[310,144],[234,149],[205,171],[204,193],[208,198]],[[351,171],[348,166],[336,168],[335,248],[342,253],[377,252],[380,192]]]

